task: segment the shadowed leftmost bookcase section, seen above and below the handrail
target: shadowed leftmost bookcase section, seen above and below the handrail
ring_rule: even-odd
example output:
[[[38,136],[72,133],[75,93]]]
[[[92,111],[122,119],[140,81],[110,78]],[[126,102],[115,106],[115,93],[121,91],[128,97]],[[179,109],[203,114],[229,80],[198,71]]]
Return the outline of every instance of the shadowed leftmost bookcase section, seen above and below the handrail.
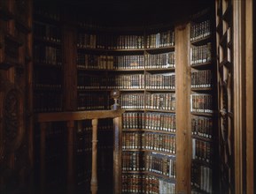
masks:
[[[36,2],[33,16],[34,113],[64,111],[64,30],[61,9]],[[62,186],[66,184],[66,123],[44,123],[41,130],[38,124],[34,124],[35,190],[43,184],[42,192],[63,192],[66,189]],[[45,142],[42,143],[44,136]],[[45,159],[40,155],[43,144]],[[42,164],[45,164],[45,172],[39,170]]]

